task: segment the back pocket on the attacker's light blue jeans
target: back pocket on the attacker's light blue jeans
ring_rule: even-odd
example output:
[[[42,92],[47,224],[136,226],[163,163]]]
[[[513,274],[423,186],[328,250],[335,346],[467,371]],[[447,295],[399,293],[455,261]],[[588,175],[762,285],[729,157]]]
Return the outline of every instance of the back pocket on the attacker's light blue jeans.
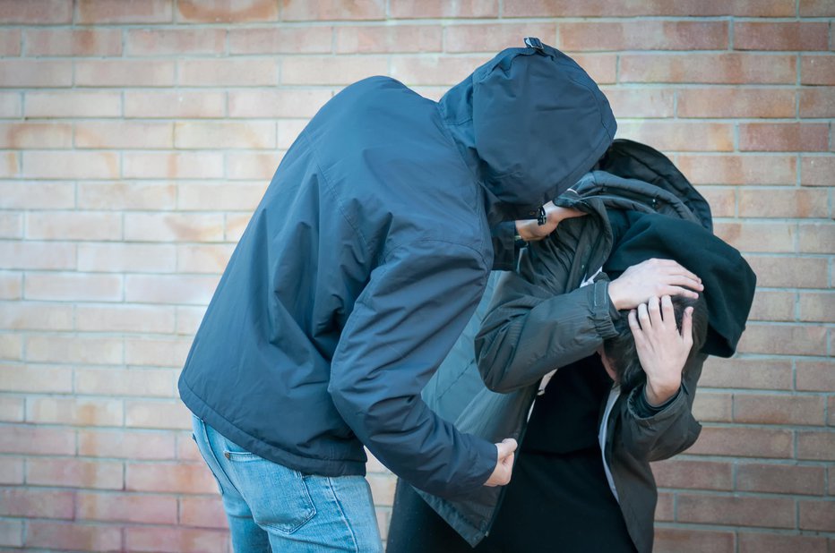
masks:
[[[301,472],[231,446],[224,447],[223,455],[256,523],[289,534],[316,515]]]

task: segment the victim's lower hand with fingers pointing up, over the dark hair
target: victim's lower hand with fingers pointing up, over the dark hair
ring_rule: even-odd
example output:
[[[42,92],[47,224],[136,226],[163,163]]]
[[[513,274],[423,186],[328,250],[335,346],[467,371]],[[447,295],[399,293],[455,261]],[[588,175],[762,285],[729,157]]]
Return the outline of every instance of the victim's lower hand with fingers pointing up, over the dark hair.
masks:
[[[643,371],[647,373],[647,400],[660,405],[674,396],[681,386],[684,363],[693,347],[693,308],[684,310],[682,328],[676,328],[673,301],[665,295],[641,303],[637,313],[629,311],[629,328]]]

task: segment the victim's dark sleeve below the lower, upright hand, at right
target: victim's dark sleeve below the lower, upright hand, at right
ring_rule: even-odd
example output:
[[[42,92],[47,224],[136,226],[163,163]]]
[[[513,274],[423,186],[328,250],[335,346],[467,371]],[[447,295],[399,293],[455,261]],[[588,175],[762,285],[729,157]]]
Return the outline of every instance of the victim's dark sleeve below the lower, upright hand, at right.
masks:
[[[693,399],[706,358],[703,353],[693,357],[684,370],[678,395],[659,413],[642,416],[638,398],[644,393],[643,386],[635,387],[620,404],[621,423],[615,425],[620,437],[615,440],[629,455],[641,461],[660,461],[683,452],[699,438],[702,425],[693,417]]]

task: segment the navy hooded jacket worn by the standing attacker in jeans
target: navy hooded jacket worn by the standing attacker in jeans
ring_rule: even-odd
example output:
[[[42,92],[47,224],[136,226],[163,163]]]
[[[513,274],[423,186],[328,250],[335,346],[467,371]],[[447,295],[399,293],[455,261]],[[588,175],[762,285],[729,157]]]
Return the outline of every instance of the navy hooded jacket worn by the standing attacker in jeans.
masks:
[[[480,487],[495,446],[420,391],[475,310],[491,227],[536,217],[611,143],[615,120],[550,47],[510,48],[440,103],[373,77],[283,158],[179,380],[197,416],[300,472],[364,474],[365,444],[420,489]]]

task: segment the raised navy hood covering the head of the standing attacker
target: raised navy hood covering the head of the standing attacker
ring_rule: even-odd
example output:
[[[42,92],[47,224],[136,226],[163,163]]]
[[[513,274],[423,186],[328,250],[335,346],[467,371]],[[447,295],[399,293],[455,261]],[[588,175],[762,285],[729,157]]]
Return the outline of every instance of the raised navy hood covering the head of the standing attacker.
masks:
[[[507,48],[440,100],[443,122],[486,191],[491,224],[535,218],[590,170],[615,137],[603,92],[536,38]]]

